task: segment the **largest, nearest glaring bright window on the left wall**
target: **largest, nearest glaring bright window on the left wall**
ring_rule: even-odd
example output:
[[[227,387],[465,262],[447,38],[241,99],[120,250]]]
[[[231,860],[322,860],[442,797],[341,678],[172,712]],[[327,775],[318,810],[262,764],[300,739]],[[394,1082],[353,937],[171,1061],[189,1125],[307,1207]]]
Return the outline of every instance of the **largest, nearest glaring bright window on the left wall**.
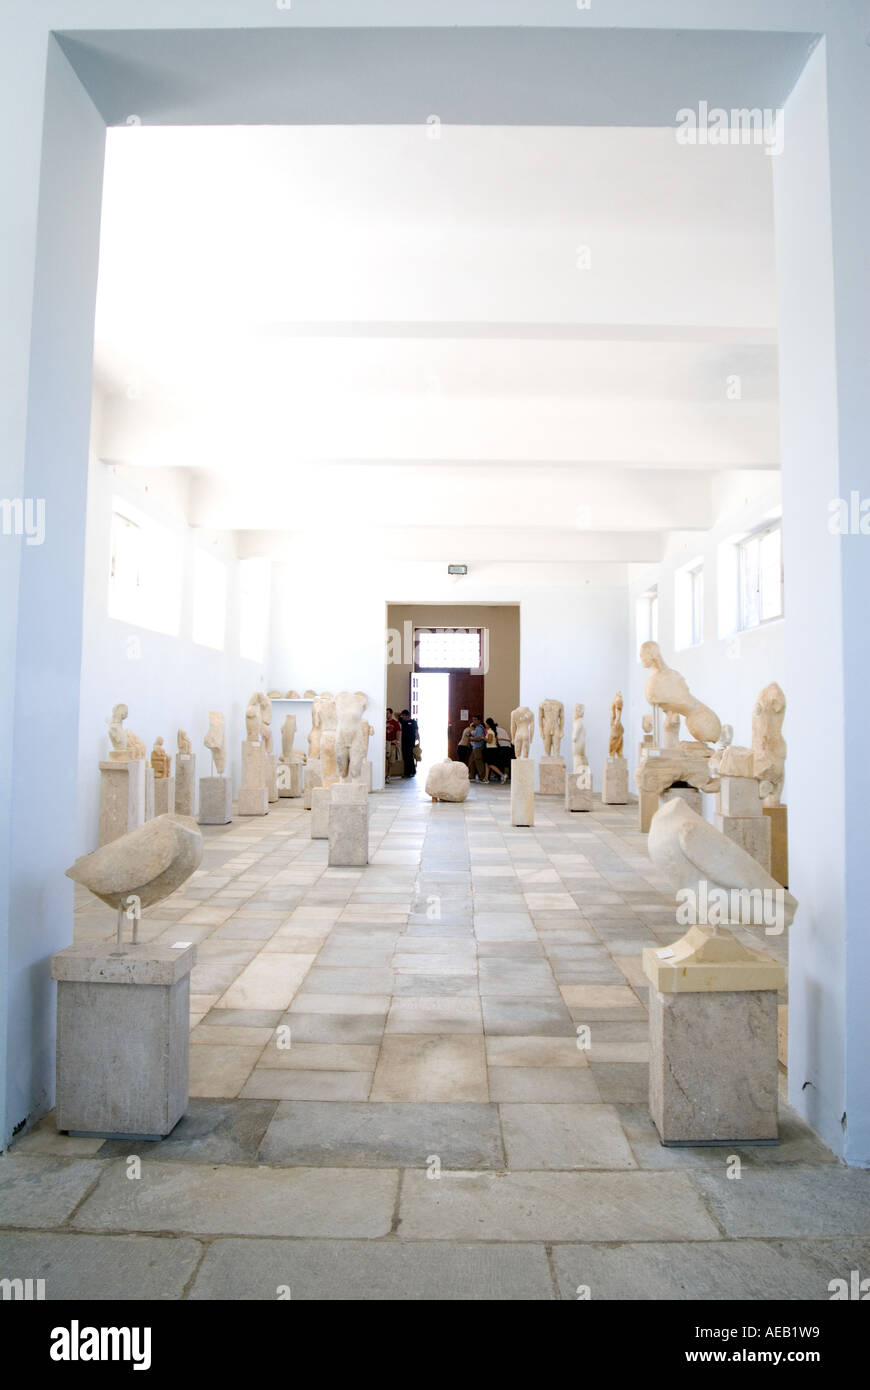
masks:
[[[178,637],[183,575],[182,538],[115,499],[111,513],[108,616]]]

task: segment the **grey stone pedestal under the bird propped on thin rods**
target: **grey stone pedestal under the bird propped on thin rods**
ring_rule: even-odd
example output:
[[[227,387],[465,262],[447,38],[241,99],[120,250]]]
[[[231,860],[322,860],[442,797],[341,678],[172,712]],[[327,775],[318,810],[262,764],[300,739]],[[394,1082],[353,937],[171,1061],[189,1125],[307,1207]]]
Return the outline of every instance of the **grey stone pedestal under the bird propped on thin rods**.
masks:
[[[196,947],[79,942],[57,980],[57,1129],[163,1138],[188,1108]]]

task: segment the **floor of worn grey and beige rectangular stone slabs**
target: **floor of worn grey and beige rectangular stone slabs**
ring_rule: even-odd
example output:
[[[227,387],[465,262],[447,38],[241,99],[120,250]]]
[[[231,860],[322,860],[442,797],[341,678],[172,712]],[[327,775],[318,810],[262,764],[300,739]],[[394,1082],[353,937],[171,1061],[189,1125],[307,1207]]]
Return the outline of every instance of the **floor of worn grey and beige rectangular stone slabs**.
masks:
[[[142,923],[197,944],[189,1113],[160,1144],[53,1116],[14,1144],[0,1277],[47,1298],[826,1300],[870,1273],[870,1173],[785,1104],[777,1147],[659,1144],[639,952],[681,931],[637,808],[536,798],[518,830],[504,788],[435,806],[420,781],[370,805],[366,869],[327,867],[299,802],[204,828]],[[76,938],[113,929],[76,897]]]

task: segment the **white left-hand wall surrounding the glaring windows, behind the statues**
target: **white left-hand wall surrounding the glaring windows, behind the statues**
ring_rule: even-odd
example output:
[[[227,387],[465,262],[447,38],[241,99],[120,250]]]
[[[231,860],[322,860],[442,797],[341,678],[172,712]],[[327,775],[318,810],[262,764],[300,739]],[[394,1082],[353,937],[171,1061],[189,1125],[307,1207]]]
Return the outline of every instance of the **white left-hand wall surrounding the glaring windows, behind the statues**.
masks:
[[[245,737],[245,708],[254,689],[264,689],[265,662],[239,657],[238,557],[232,535],[190,530],[186,524],[186,474],[181,470],[135,470],[104,464],[97,457],[100,399],[95,398],[88,471],[88,535],[85,562],[85,623],[78,746],[78,853],[96,847],[100,774],[108,755],[108,721],[118,702],[129,708],[126,727],[149,751],[161,734],[175,760],[177,734],[183,728],[196,753],[197,777],[211,774],[203,748],[208,710],[227,720],[227,771],[238,794],[239,745]],[[126,502],[175,531],[183,545],[183,591],[178,637],[153,632],[108,616],[108,564],[113,498]],[[195,548],[227,563],[227,634],[224,651],[192,639]],[[267,648],[268,651],[268,648]],[[175,766],[175,762],[172,762]]]

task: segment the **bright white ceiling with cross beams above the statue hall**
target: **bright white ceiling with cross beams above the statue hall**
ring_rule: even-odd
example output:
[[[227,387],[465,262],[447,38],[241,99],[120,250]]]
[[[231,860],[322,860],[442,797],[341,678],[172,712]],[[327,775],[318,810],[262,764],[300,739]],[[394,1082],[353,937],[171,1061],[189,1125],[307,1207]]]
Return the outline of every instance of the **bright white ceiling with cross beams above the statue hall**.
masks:
[[[673,129],[113,129],[95,373],[101,457],[193,470],[196,524],[315,527],[328,495],[389,527],[399,486],[427,552],[467,527],[516,553],[520,525],[646,559],[710,525],[714,473],[778,466],[770,158]]]

